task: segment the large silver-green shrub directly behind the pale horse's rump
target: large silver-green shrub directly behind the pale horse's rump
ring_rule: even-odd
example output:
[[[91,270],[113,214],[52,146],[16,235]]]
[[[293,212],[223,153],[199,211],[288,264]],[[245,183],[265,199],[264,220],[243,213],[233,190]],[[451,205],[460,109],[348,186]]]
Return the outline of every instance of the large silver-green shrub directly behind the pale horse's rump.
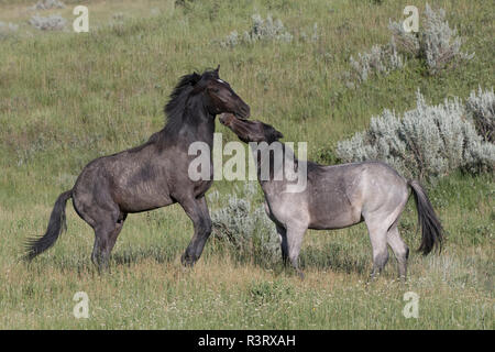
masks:
[[[461,168],[493,172],[495,145],[476,133],[460,99],[429,106],[418,91],[416,109],[397,116],[384,110],[366,131],[341,141],[337,155],[343,162],[383,161],[408,178],[446,176]]]

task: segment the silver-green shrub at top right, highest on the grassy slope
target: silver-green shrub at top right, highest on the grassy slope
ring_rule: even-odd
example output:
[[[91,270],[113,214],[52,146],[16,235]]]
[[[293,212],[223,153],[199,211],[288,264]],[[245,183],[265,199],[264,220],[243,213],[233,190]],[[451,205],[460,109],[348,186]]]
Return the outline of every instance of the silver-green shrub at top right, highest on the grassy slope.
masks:
[[[399,51],[424,59],[430,75],[438,74],[450,63],[474,57],[474,53],[461,52],[462,38],[449,26],[443,9],[433,11],[427,3],[421,19],[418,33],[407,33],[399,22],[391,21],[388,28]]]

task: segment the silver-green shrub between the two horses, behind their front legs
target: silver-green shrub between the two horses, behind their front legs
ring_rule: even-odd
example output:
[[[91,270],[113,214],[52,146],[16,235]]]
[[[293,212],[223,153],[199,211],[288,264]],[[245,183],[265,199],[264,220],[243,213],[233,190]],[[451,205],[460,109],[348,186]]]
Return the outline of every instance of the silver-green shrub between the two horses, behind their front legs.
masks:
[[[235,255],[258,264],[273,264],[280,257],[275,224],[263,206],[254,206],[256,185],[246,183],[244,197],[229,195],[227,204],[211,211],[212,235],[232,246]]]

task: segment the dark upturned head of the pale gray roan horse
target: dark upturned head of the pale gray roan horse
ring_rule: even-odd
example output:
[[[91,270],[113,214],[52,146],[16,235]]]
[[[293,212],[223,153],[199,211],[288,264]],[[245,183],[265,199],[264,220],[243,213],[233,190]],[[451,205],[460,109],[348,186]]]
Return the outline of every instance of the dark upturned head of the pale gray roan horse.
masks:
[[[223,113],[220,122],[231,129],[244,142],[266,142],[268,144],[283,139],[284,135],[272,125],[257,120],[240,120],[231,113]]]

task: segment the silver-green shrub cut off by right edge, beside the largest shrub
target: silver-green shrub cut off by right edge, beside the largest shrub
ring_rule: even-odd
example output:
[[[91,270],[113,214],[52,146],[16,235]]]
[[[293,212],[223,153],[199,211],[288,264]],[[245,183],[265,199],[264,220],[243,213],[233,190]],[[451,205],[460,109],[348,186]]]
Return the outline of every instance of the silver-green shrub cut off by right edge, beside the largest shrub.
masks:
[[[471,91],[465,102],[465,109],[484,141],[495,143],[495,95],[492,90],[483,91],[479,87]]]

